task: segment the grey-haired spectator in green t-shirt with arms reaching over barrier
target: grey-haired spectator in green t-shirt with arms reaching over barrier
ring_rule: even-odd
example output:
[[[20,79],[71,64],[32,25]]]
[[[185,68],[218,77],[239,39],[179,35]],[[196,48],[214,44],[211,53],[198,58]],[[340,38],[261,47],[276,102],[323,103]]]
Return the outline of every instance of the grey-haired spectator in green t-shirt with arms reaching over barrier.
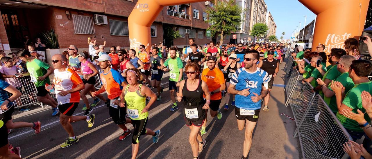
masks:
[[[345,87],[345,92],[348,92],[354,87],[354,82],[349,77],[349,68],[353,60],[355,60],[354,56],[343,55],[335,65],[336,70],[340,72],[340,75],[333,79],[333,81],[340,82]],[[317,79],[317,82],[324,93],[325,104],[327,104],[329,108],[331,108],[332,112],[336,114],[339,110],[337,109],[336,96],[334,95],[331,85],[325,83],[320,78]]]

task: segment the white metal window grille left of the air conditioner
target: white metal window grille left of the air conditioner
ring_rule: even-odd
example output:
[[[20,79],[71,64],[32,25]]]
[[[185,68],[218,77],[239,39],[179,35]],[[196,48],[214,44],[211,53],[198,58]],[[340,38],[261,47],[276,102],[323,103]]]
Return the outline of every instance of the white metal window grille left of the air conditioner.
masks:
[[[95,34],[93,17],[72,15],[76,34]]]

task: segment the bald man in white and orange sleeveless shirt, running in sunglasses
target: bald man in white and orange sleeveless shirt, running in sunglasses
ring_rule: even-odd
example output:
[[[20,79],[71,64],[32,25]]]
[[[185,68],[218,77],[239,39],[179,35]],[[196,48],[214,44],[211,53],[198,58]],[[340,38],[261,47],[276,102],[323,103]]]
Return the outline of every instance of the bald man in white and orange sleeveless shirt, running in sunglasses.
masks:
[[[92,127],[95,115],[72,116],[79,105],[79,91],[83,90],[85,85],[80,79],[80,76],[74,70],[67,67],[68,59],[66,56],[62,54],[53,55],[52,65],[55,68],[53,84],[57,96],[58,108],[61,111],[60,123],[69,135],[68,139],[61,144],[61,148],[65,148],[79,141],[70,123],[86,120],[88,122],[88,127]],[[47,87],[45,87],[45,89],[48,90]]]

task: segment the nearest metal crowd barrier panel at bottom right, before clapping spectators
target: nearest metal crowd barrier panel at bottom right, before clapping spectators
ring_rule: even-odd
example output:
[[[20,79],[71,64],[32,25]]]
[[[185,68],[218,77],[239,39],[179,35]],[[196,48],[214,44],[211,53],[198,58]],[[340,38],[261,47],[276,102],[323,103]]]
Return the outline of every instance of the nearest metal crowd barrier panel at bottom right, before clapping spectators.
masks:
[[[316,95],[295,132],[303,158],[347,158],[342,144],[352,140],[320,95]]]

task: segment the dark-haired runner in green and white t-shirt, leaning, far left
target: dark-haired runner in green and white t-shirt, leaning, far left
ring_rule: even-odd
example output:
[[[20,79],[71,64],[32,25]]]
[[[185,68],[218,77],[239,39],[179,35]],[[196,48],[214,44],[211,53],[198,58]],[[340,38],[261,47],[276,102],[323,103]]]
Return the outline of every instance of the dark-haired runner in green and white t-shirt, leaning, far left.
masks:
[[[33,58],[31,56],[31,53],[25,49],[20,49],[17,52],[17,56],[23,61],[27,62],[26,66],[29,72],[26,73],[24,76],[30,75],[31,81],[35,84],[36,90],[38,92],[36,94],[36,98],[38,99],[38,101],[52,107],[52,116],[57,115],[60,112],[57,108],[57,102],[55,102],[55,100],[51,96],[49,96],[49,92],[45,89],[45,84],[50,84],[49,75],[52,74],[54,69],[52,69],[45,62]],[[57,62],[62,61],[52,61],[52,63]]]

